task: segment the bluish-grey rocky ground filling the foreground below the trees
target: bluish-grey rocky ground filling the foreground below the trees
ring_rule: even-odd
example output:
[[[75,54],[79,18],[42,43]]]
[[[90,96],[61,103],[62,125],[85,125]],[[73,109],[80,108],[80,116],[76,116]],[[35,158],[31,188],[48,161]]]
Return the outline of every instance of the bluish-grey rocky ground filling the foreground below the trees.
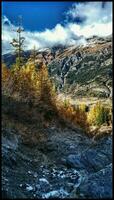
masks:
[[[49,126],[45,140],[27,143],[15,125],[2,129],[3,198],[112,197],[111,135]]]

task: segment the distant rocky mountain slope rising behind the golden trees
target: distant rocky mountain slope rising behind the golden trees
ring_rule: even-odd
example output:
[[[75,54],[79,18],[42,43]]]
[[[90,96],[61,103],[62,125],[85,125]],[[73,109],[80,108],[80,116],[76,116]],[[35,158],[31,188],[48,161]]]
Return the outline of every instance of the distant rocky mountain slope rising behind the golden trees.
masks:
[[[25,52],[29,58],[30,51]],[[9,66],[15,56],[3,56]],[[44,49],[37,52],[36,63],[45,62],[59,92],[75,96],[112,97],[112,37],[93,36],[85,46]],[[28,63],[31,63],[29,60]]]

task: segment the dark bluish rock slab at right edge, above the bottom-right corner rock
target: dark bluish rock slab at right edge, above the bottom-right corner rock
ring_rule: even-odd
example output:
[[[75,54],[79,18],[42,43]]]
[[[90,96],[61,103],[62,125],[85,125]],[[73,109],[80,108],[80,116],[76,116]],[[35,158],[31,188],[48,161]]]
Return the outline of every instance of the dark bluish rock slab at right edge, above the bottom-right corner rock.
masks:
[[[97,145],[90,146],[83,153],[69,155],[66,164],[77,169],[85,169],[89,173],[97,172],[111,163],[112,160],[112,139],[103,138]]]

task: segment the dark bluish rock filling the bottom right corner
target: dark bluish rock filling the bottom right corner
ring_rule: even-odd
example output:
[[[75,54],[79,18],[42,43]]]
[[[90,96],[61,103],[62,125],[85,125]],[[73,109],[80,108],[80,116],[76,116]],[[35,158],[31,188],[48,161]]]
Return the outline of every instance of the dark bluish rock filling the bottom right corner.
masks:
[[[112,198],[112,164],[85,178],[76,193],[92,199]]]

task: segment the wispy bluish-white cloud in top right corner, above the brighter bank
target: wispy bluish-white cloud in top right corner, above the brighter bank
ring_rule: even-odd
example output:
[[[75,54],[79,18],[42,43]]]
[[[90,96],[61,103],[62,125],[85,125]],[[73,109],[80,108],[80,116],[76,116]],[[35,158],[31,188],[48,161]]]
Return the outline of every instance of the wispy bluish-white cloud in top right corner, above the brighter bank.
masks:
[[[105,2],[104,6],[103,2],[74,3],[66,14],[73,19],[85,18],[85,25],[108,23],[112,21],[112,2]]]

